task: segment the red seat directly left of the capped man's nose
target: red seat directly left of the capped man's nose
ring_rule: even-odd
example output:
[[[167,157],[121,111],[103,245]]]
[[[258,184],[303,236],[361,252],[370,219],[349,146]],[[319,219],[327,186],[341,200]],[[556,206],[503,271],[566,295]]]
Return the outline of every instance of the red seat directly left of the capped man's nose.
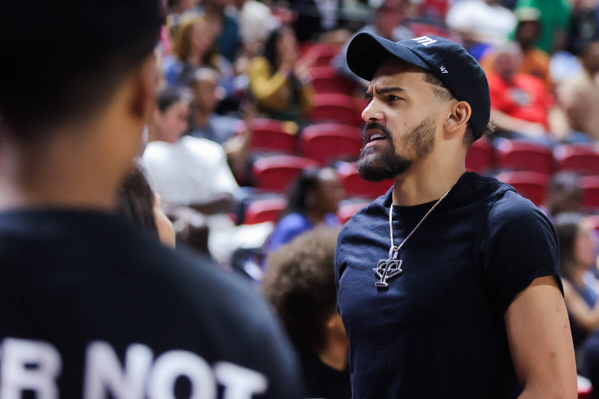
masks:
[[[337,122],[361,126],[362,109],[358,109],[356,99],[340,94],[317,94],[312,96],[314,106],[310,120],[313,122]]]

